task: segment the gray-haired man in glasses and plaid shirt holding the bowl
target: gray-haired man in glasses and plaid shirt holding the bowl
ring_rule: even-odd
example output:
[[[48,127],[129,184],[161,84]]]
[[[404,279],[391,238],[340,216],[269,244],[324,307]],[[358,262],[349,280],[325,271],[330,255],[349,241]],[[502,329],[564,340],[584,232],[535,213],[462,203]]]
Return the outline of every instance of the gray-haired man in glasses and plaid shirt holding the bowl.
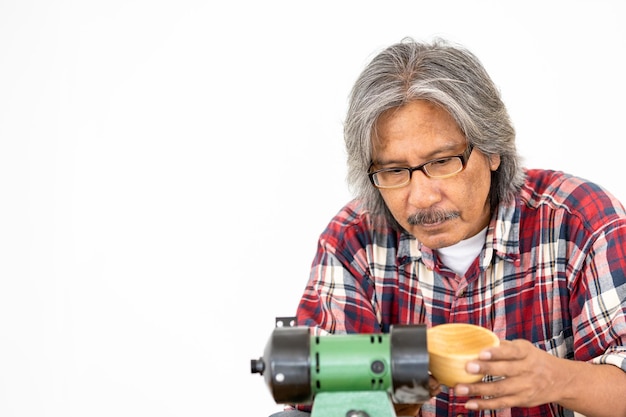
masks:
[[[320,237],[299,325],[498,335],[466,369],[499,378],[435,384],[411,414],[626,416],[624,208],[595,184],[520,166],[472,53],[409,39],[382,51],[353,87],[345,141],[356,199]]]

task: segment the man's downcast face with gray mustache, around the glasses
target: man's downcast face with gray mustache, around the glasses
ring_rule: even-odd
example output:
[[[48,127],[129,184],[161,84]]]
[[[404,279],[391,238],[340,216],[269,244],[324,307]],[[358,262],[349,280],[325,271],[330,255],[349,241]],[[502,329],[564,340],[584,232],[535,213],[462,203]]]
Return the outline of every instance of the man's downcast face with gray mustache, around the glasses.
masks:
[[[383,113],[376,124],[373,169],[415,167],[459,155],[467,140],[450,114],[426,100]],[[491,171],[500,157],[474,149],[465,169],[448,178],[414,171],[409,184],[380,193],[394,218],[431,249],[454,245],[489,224]]]

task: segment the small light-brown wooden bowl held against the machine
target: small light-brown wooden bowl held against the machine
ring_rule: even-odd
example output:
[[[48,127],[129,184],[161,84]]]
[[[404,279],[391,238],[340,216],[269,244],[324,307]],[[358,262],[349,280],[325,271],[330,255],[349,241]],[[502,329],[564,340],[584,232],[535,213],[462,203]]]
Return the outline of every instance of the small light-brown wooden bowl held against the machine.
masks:
[[[430,373],[448,387],[473,383],[484,375],[468,374],[465,365],[485,348],[498,346],[498,337],[484,327],[464,323],[440,324],[426,334]]]

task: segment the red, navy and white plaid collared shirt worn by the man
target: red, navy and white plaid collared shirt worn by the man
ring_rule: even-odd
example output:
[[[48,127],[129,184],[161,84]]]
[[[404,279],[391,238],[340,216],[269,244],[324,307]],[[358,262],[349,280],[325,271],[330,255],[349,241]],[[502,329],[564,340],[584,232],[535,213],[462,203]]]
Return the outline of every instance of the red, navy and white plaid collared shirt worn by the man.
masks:
[[[317,333],[389,332],[393,324],[473,323],[560,358],[626,371],[626,213],[595,184],[528,170],[500,204],[464,276],[435,251],[347,204],[322,233],[297,310]],[[472,412],[444,392],[423,417],[573,416],[556,404]]]

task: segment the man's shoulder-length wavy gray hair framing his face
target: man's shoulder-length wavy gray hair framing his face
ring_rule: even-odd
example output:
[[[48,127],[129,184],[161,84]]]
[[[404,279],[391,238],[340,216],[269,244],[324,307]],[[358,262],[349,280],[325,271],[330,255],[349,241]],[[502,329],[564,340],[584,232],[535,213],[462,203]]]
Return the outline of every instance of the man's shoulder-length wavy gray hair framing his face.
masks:
[[[515,148],[515,129],[500,92],[478,58],[442,39],[410,38],[384,49],[366,66],[350,94],[344,124],[348,184],[373,213],[399,227],[367,176],[376,121],[386,110],[413,100],[429,100],[454,118],[468,142],[485,155],[500,155],[492,172],[490,204],[510,201],[524,182]]]

